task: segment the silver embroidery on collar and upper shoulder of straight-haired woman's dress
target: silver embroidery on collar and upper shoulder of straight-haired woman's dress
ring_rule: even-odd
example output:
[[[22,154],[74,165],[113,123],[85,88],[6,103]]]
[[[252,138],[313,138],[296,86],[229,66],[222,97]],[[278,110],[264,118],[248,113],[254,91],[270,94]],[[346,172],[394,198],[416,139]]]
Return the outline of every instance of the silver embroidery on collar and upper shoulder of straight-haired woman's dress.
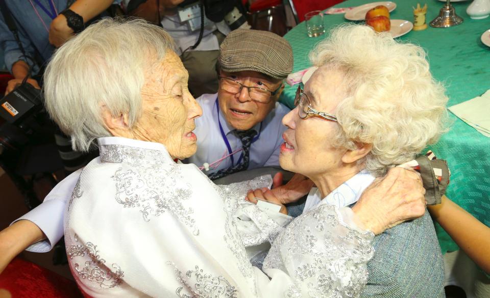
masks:
[[[119,168],[112,179],[116,184],[116,201],[125,208],[138,209],[144,221],[171,212],[187,225],[194,235],[199,229],[192,218],[193,209],[184,201],[192,196],[190,185],[183,183],[180,168],[161,151],[121,145],[101,146],[101,160],[126,162],[135,170]],[[162,167],[162,165],[166,165]]]

